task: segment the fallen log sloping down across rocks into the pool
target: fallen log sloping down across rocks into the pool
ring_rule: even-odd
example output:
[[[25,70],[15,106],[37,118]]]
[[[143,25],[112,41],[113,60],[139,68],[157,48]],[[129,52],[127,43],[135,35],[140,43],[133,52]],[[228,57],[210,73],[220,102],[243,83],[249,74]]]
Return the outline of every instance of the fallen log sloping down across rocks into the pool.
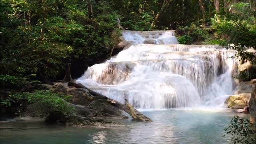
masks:
[[[128,113],[132,118],[134,118],[135,120],[140,120],[143,122],[152,122],[152,120],[150,118],[148,118],[147,116],[145,116],[144,114],[142,114],[141,112],[139,112],[138,110],[136,110],[132,104],[130,104],[128,102],[128,100],[125,99],[125,104],[122,104],[116,100],[113,100],[111,98],[108,98],[107,96],[104,96],[98,92],[95,92],[89,88],[87,88],[86,86],[82,85],[82,84],[76,84],[74,82],[68,82],[68,86],[73,86],[75,88],[85,88],[87,89],[90,94],[92,96],[100,96],[104,99],[106,99],[108,102],[110,102],[110,104],[112,106],[115,106],[116,108],[125,111],[126,113]]]

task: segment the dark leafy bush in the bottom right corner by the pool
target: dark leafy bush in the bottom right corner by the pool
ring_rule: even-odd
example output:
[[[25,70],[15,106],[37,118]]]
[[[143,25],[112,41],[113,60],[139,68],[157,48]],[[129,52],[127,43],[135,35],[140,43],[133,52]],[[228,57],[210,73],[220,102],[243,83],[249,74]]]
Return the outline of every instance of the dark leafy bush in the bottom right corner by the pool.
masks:
[[[256,125],[255,125],[256,126]],[[256,143],[256,130],[250,128],[250,122],[246,118],[234,116],[231,119],[228,128],[225,128],[227,134],[231,134],[231,141],[234,144],[255,144]]]

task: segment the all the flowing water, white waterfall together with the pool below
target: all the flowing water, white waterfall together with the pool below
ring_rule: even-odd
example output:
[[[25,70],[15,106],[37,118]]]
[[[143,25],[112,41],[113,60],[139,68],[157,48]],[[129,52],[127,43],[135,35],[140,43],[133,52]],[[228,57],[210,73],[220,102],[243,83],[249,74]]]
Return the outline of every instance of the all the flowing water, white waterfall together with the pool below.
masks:
[[[123,36],[132,46],[91,66],[77,82],[120,102],[128,99],[154,122],[129,118],[117,120],[125,126],[79,128],[7,120],[1,122],[1,144],[230,143],[222,136],[235,115],[224,107],[234,90],[234,52],[178,44],[174,31]]]

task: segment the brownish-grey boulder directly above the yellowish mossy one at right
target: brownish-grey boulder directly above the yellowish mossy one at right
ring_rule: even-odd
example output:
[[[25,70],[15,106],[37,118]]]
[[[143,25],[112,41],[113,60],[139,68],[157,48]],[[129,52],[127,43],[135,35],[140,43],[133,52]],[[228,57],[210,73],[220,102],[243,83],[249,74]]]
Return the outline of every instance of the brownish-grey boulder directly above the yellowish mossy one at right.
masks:
[[[251,93],[254,87],[255,85],[250,81],[240,82],[234,90],[234,94]]]

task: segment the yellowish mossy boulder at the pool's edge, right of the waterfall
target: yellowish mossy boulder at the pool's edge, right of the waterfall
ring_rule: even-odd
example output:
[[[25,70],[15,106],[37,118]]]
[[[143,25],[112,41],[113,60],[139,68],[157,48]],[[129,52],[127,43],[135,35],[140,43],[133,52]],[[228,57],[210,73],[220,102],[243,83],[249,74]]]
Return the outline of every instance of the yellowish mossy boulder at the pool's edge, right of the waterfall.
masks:
[[[225,100],[225,103],[228,104],[228,108],[244,108],[245,106],[248,106],[250,97],[250,93],[235,94],[228,97]]]

